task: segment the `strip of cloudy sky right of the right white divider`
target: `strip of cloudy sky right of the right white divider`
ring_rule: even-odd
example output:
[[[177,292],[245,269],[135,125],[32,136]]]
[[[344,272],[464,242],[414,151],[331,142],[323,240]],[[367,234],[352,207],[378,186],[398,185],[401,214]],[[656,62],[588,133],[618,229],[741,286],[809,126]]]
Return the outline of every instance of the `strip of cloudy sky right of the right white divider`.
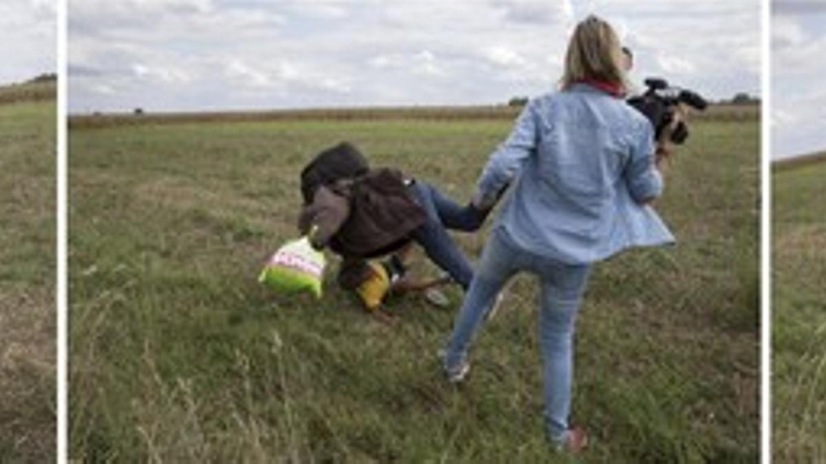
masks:
[[[772,0],[772,156],[826,150],[826,0]]]

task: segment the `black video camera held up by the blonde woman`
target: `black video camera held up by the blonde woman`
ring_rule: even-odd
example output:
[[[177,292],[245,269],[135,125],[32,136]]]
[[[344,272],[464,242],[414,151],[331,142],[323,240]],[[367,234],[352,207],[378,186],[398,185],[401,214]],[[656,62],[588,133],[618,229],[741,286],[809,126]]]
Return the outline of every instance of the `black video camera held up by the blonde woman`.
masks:
[[[654,126],[654,139],[659,140],[662,130],[672,124],[677,111],[683,113],[689,106],[704,111],[708,106],[705,98],[700,94],[685,88],[676,88],[668,85],[662,78],[647,78],[645,86],[648,88],[642,95],[631,97],[628,104],[643,113]],[[674,144],[682,144],[688,138],[688,125],[679,120],[674,125],[669,140]]]

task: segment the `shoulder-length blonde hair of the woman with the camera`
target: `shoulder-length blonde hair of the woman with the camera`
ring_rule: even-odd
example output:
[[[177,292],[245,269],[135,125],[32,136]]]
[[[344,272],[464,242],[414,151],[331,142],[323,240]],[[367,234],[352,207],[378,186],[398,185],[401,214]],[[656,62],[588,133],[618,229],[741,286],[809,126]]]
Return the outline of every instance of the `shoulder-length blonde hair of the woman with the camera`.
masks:
[[[583,79],[615,83],[623,90],[629,88],[619,37],[610,24],[593,15],[582,20],[573,31],[560,87],[570,88]]]

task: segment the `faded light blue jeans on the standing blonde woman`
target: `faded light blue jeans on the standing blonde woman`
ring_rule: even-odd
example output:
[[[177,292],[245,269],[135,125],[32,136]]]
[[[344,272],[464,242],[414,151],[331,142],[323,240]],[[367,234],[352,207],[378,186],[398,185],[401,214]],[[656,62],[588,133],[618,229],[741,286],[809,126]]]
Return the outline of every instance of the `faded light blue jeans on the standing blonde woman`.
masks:
[[[570,265],[519,249],[505,230],[491,232],[477,272],[453,322],[444,354],[444,369],[458,372],[482,316],[491,308],[502,286],[516,272],[539,277],[539,351],[543,362],[544,415],[548,436],[562,442],[567,436],[571,409],[573,332],[590,265]]]

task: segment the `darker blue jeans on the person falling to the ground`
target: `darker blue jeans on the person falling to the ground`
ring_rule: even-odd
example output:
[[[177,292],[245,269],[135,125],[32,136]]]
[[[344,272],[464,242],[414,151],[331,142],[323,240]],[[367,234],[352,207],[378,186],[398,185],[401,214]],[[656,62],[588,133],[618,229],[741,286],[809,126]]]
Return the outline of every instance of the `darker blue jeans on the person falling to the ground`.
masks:
[[[478,230],[487,214],[469,205],[459,206],[428,182],[416,181],[409,189],[427,215],[427,221],[413,231],[412,238],[425,249],[431,261],[448,272],[467,291],[473,278],[473,268],[448,230]]]

